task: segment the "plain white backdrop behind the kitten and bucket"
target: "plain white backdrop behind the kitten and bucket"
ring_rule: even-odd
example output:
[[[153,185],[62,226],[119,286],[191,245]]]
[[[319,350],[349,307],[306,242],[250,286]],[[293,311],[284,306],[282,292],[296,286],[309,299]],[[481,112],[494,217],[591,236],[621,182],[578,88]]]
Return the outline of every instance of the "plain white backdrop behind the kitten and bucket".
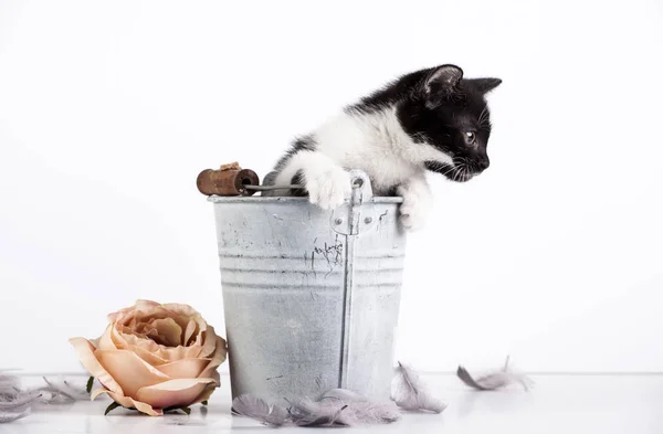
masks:
[[[397,357],[663,371],[662,29],[644,0],[0,0],[0,368],[78,371],[66,339],[137,298],[222,329],[197,174],[264,174],[345,104],[455,63],[504,80],[492,167],[431,177]]]

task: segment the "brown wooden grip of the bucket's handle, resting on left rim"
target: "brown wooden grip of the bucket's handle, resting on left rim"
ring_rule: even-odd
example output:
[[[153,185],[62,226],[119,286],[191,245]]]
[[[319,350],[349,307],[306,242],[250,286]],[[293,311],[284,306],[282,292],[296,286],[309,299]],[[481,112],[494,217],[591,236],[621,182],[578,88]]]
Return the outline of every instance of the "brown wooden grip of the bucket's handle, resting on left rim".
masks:
[[[207,195],[252,195],[255,190],[248,186],[260,186],[257,174],[251,169],[212,170],[200,172],[196,181],[198,190]]]

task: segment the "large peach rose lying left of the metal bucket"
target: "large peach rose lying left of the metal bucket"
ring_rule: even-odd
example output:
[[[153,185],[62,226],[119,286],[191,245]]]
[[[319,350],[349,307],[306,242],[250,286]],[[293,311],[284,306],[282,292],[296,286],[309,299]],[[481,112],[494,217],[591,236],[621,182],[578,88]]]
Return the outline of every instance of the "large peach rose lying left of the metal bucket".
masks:
[[[187,305],[138,300],[108,315],[101,338],[72,338],[81,362],[122,406],[156,416],[206,401],[220,385],[225,340]]]

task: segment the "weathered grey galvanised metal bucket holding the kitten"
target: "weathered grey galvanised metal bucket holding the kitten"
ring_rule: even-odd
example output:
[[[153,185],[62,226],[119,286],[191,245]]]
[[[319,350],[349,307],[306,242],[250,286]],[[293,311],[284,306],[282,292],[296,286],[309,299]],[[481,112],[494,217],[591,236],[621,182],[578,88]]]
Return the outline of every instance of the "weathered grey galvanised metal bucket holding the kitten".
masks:
[[[406,236],[401,198],[351,171],[334,211],[306,198],[210,197],[232,396],[316,399],[346,388],[388,400]]]

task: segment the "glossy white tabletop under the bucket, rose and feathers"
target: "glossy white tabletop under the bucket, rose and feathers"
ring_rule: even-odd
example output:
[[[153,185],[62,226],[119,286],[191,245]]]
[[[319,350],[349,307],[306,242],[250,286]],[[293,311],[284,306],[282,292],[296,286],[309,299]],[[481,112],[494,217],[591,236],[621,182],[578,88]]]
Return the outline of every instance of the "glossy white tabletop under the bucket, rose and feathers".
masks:
[[[533,375],[535,388],[475,392],[454,375],[423,375],[443,399],[441,414],[403,414],[400,422],[350,428],[355,433],[555,433],[663,434],[663,375]],[[29,380],[34,382],[34,379]],[[78,383],[84,380],[78,379]],[[210,399],[191,415],[162,417],[116,409],[108,416],[108,400],[50,405],[23,420],[0,424],[1,434],[40,433],[267,433],[270,427],[230,414],[228,377]],[[280,433],[325,432],[324,428],[277,428]],[[338,428],[334,428],[338,432]]]

